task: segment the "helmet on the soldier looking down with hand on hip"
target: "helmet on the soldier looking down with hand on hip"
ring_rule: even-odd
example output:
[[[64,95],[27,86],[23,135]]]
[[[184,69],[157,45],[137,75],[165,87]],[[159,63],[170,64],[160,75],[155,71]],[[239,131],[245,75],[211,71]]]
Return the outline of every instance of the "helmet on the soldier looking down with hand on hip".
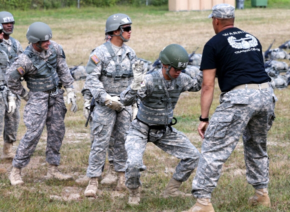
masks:
[[[50,40],[52,38],[52,31],[46,23],[34,22],[28,27],[26,38],[29,40],[29,43]]]

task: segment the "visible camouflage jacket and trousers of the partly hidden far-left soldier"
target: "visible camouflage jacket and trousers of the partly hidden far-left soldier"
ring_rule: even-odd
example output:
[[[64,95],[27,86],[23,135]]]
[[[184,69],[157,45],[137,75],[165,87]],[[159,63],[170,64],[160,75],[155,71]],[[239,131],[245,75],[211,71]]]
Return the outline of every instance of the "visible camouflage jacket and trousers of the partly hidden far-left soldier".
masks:
[[[3,42],[0,43],[0,48],[3,47],[3,50],[7,53],[9,62],[12,64],[14,62],[14,58],[23,52],[23,49],[20,45],[20,42],[13,37],[9,36],[9,39],[3,39]],[[20,96],[15,95],[15,111],[12,115],[5,112],[4,116],[4,131],[3,131],[3,139],[5,143],[13,143],[16,141],[17,130],[20,121]],[[2,120],[2,119],[1,119]]]

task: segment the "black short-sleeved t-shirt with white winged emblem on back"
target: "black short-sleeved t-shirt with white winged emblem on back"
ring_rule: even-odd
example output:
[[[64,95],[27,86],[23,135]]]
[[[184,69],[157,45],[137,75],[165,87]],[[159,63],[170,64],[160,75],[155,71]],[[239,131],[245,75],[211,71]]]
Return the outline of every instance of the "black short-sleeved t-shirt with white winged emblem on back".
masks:
[[[271,81],[265,72],[260,42],[236,27],[222,30],[204,45],[200,70],[214,68],[222,92],[241,84]]]

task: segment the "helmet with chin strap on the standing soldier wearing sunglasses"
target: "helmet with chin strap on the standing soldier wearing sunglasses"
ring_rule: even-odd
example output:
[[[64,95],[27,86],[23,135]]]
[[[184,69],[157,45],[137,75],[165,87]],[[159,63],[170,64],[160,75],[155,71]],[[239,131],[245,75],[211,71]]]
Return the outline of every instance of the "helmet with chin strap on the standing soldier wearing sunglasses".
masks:
[[[129,40],[124,39],[122,36],[122,25],[125,24],[132,24],[131,18],[128,15],[122,13],[113,14],[107,18],[104,32],[111,36],[120,36],[124,42],[127,42]],[[120,34],[112,35],[112,31],[117,30],[118,28],[121,29]]]

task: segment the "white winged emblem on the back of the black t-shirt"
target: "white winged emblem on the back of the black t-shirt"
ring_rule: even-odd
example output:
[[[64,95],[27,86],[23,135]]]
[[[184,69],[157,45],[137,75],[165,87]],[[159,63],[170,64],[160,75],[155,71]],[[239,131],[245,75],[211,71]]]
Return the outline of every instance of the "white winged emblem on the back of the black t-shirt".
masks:
[[[237,49],[247,49],[258,45],[257,39],[250,34],[245,34],[244,38],[240,38],[238,40],[235,37],[230,36],[227,38],[227,41],[231,47]]]

